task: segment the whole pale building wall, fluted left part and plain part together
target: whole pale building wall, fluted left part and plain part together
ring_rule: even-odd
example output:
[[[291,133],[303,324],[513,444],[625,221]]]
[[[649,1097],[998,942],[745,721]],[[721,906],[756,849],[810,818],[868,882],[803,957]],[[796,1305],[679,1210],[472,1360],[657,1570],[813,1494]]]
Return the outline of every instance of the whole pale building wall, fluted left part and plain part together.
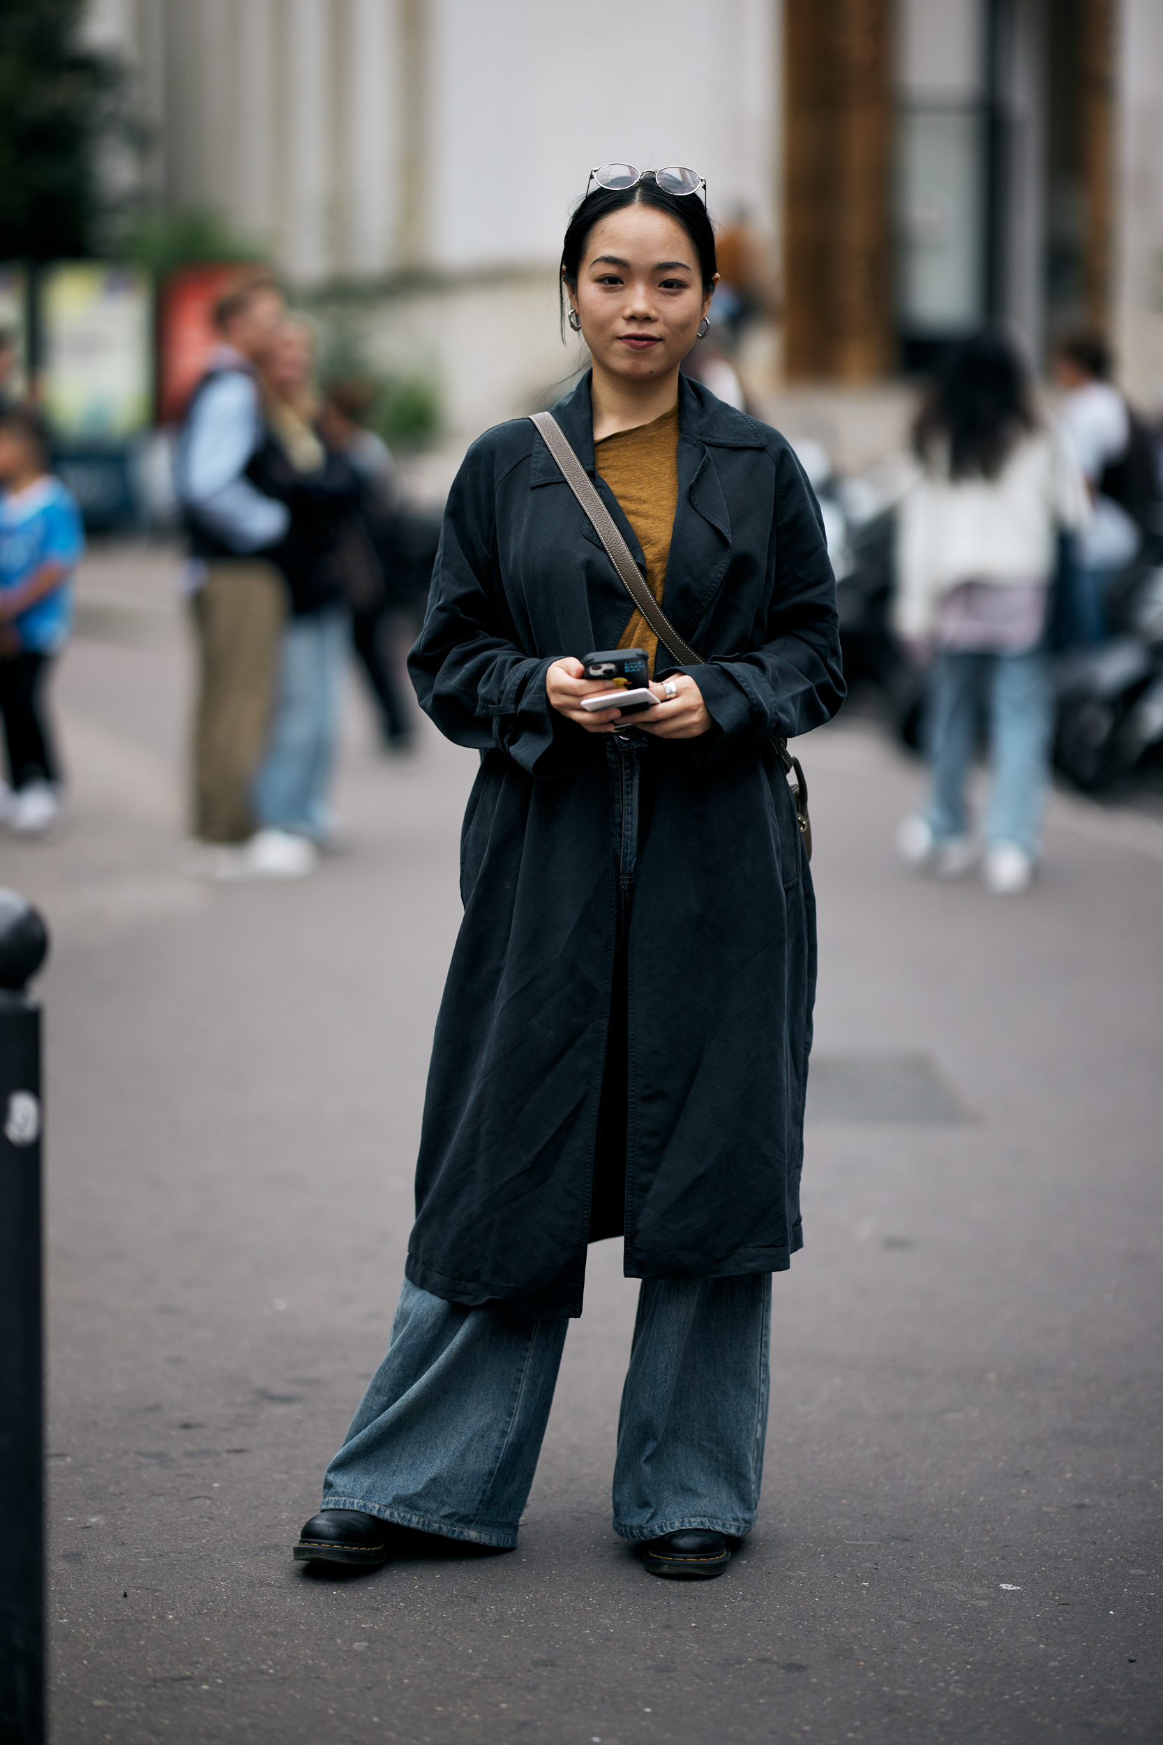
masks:
[[[772,234],[778,23],[771,0],[622,0],[609,28],[546,0],[91,0],[87,31],[139,68],[169,202],[317,284],[551,262],[609,159],[690,164]]]

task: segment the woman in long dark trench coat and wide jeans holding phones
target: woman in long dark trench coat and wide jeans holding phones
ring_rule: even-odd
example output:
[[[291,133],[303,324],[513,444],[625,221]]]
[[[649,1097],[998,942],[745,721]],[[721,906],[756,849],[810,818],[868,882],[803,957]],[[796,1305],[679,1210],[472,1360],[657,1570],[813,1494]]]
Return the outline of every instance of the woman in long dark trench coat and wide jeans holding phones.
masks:
[[[464,923],[429,1073],[391,1349],[295,1555],[382,1564],[391,1523],[511,1548],[586,1244],[642,1279],[614,1529],[659,1576],[750,1532],[771,1274],[800,1248],[814,904],[771,735],[844,682],[820,511],[788,443],[678,373],[715,237],[690,171],[605,166],[565,234],[593,370],[556,421],[656,600],[654,639],[528,419],[453,483],[422,707],[479,752]],[[593,178],[591,178],[593,180]],[[589,714],[595,649],[654,705]]]

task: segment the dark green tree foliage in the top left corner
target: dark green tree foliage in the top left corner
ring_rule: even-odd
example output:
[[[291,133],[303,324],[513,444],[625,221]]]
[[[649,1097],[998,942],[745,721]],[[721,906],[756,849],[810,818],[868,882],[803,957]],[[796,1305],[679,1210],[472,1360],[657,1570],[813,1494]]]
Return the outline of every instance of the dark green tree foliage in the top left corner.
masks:
[[[126,75],[78,45],[82,0],[0,0],[0,258],[87,255],[98,155],[129,127]]]

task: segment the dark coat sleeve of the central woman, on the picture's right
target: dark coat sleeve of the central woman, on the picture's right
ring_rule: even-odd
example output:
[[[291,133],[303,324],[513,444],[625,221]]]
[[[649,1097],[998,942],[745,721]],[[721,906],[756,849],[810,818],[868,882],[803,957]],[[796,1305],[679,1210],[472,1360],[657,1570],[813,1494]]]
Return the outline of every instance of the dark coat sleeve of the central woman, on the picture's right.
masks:
[[[692,740],[696,764],[823,726],[844,701],[835,576],[823,517],[804,469],[779,448],[774,496],[774,585],[758,647],[684,668],[715,722]]]

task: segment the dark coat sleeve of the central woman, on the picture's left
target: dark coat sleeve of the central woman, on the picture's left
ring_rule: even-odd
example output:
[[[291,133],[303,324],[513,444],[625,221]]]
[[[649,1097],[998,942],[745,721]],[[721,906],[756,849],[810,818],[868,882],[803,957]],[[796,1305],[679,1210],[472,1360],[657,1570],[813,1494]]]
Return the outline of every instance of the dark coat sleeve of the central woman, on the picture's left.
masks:
[[[453,743],[506,752],[530,775],[560,775],[575,764],[581,729],[546,696],[551,665],[516,642],[497,562],[493,464],[481,440],[448,494],[408,672],[420,708]]]

